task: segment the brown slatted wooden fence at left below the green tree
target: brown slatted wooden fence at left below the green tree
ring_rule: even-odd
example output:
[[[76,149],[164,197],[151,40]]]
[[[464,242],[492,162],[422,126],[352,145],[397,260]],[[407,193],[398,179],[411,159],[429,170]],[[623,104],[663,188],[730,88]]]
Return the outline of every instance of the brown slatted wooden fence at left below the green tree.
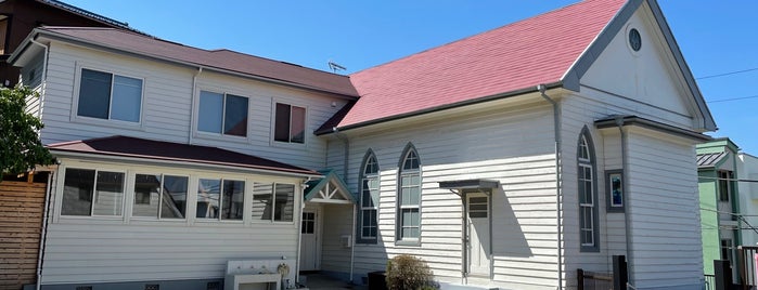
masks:
[[[36,282],[44,183],[0,182],[0,289]]]

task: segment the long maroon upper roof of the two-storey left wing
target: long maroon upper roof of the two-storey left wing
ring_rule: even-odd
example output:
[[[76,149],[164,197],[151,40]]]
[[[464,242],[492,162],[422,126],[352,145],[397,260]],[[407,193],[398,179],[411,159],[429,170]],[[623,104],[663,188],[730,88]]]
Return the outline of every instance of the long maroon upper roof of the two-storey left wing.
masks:
[[[43,27],[41,31],[140,55],[223,69],[293,83],[350,98],[358,95],[346,76],[230,50],[202,50],[145,35],[102,27]]]

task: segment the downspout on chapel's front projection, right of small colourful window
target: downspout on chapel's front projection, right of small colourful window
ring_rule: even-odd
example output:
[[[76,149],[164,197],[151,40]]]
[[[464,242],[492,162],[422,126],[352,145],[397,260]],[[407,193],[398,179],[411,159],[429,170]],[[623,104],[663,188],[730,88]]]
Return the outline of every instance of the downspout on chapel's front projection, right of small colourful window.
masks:
[[[631,214],[631,205],[629,205],[629,170],[627,166],[629,163],[629,157],[627,156],[627,132],[624,131],[624,117],[616,116],[616,126],[618,126],[618,132],[621,134],[621,175],[624,176],[621,183],[624,186],[624,233],[626,235],[626,246],[627,246],[627,286],[632,287],[634,285],[634,251],[632,250],[633,236],[631,233],[631,223],[629,217]]]

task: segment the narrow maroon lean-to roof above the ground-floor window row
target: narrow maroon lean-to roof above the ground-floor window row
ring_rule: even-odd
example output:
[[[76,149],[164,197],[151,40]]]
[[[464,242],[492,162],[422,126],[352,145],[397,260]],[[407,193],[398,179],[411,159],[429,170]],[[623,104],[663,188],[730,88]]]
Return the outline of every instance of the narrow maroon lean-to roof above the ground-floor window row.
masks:
[[[279,171],[307,175],[319,172],[303,169],[252,155],[207,147],[128,136],[110,136],[85,141],[72,141],[48,145],[55,151],[81,153],[132,157],[164,161],[182,161],[200,164],[229,166],[253,170]]]

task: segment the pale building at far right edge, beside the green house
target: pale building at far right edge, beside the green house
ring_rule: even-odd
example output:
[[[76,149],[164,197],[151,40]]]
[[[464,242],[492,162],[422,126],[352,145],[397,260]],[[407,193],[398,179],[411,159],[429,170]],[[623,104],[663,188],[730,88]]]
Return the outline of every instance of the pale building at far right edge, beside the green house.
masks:
[[[737,190],[743,246],[758,246],[758,157],[737,154]]]

